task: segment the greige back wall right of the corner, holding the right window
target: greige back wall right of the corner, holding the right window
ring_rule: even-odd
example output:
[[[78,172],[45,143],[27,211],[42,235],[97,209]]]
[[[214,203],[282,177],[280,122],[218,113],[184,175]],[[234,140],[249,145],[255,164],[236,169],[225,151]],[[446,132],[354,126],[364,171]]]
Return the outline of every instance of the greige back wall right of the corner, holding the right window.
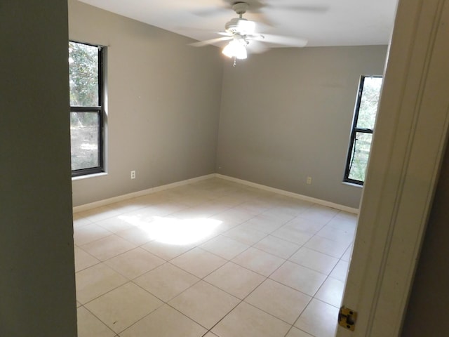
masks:
[[[227,62],[217,172],[358,208],[361,188],[342,184],[358,80],[382,75],[386,55],[387,46],[277,48]]]

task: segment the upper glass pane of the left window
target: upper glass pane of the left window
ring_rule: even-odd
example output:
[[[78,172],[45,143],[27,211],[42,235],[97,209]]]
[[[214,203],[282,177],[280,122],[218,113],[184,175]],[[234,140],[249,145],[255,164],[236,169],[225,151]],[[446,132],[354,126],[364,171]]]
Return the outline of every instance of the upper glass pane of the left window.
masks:
[[[98,47],[69,42],[70,105],[97,107]]]

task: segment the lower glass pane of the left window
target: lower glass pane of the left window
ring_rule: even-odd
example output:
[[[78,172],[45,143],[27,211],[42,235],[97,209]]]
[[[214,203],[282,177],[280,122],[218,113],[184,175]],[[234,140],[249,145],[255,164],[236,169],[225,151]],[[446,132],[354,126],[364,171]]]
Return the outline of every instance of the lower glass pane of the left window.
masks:
[[[98,112],[70,112],[72,170],[100,166],[98,158]]]

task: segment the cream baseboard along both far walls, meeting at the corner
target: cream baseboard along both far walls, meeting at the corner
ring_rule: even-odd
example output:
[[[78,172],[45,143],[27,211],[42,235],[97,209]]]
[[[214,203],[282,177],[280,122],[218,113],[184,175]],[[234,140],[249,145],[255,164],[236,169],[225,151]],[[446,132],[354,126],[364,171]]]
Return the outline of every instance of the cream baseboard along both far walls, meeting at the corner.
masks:
[[[128,194],[119,195],[118,197],[112,197],[112,198],[109,198],[109,199],[104,199],[104,200],[100,200],[100,201],[91,202],[90,204],[84,204],[84,205],[81,205],[81,206],[75,206],[73,208],[73,213],[79,213],[79,212],[82,212],[82,211],[88,211],[89,209],[96,209],[97,207],[107,206],[107,205],[114,204],[116,202],[124,201],[124,200],[127,200],[127,199],[142,197],[144,195],[152,194],[152,193],[155,193],[155,192],[161,192],[163,190],[169,190],[170,188],[173,188],[173,187],[189,185],[189,184],[196,183],[198,181],[206,180],[206,179],[210,179],[210,178],[225,179],[225,180],[233,181],[234,183],[240,183],[242,185],[255,187],[255,188],[258,188],[260,190],[264,190],[264,191],[268,191],[268,192],[274,192],[274,193],[277,193],[277,194],[285,195],[286,197],[292,197],[292,198],[295,198],[295,199],[309,201],[309,202],[312,202],[314,204],[319,204],[319,205],[322,205],[322,206],[331,207],[333,209],[338,209],[340,211],[345,211],[345,212],[348,212],[348,213],[358,214],[358,209],[354,209],[354,208],[351,208],[351,207],[348,207],[348,206],[335,204],[333,202],[326,201],[326,200],[321,200],[321,199],[316,199],[316,198],[312,198],[312,197],[307,197],[306,195],[297,194],[297,193],[293,193],[293,192],[288,192],[288,191],[285,191],[285,190],[279,190],[279,188],[274,188],[274,187],[269,187],[269,186],[265,186],[265,185],[261,185],[261,184],[257,184],[257,183],[252,183],[252,182],[250,182],[248,180],[243,180],[243,179],[239,179],[239,178],[224,176],[224,175],[219,174],[219,173],[212,173],[212,174],[208,174],[206,176],[191,178],[191,179],[187,179],[187,180],[181,180],[181,181],[177,181],[176,183],[170,183],[170,184],[167,184],[167,185],[156,186],[156,187],[149,188],[147,190],[142,190],[142,191],[138,191],[138,192],[132,192],[132,193],[128,193]]]

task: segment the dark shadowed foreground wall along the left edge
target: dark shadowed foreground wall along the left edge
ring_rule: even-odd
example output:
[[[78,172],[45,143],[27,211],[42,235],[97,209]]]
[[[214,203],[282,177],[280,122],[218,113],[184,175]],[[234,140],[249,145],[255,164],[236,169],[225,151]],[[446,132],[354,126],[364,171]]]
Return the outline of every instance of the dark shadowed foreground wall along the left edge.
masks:
[[[76,336],[67,3],[0,3],[0,336]]]

